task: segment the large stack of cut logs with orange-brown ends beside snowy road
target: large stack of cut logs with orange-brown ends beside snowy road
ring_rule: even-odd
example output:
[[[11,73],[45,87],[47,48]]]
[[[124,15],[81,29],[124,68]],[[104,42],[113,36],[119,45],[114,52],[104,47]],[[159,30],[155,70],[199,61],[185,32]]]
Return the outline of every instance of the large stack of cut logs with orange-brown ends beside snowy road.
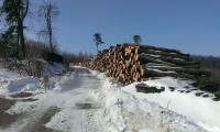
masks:
[[[95,58],[84,61],[82,66],[103,72],[124,85],[164,76],[194,80],[210,77],[210,72],[201,70],[200,64],[189,54],[134,43],[110,46]]]

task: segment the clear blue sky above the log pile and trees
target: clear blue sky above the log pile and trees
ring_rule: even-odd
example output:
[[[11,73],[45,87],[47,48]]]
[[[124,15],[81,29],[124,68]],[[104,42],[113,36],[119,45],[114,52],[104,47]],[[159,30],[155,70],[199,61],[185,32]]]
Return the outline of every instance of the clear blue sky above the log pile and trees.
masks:
[[[62,51],[96,54],[94,34],[101,33],[99,50],[141,35],[142,44],[220,56],[220,0],[52,1],[61,11],[54,28]]]

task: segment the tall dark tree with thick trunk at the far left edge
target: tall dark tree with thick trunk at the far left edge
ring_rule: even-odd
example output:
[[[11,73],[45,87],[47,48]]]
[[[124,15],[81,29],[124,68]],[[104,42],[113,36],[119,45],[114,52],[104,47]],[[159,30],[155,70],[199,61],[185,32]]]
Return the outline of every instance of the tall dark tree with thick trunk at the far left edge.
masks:
[[[9,25],[7,33],[16,33],[18,52],[22,58],[25,57],[25,43],[24,43],[24,19],[29,11],[29,0],[4,0],[0,9],[4,20]]]

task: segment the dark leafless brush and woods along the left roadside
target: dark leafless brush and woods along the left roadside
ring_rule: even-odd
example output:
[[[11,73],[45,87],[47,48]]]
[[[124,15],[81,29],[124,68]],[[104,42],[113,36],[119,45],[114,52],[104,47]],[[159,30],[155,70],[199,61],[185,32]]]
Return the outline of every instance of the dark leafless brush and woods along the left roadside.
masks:
[[[92,54],[88,53],[67,53],[54,46],[54,53],[48,52],[51,50],[50,45],[45,42],[40,42],[35,40],[25,38],[26,44],[26,56],[25,59],[20,58],[20,55],[15,48],[16,41],[11,40],[10,43],[6,44],[1,42],[0,37],[0,63],[1,66],[10,69],[16,70],[20,74],[25,72],[29,76],[41,77],[43,70],[43,64],[46,62],[63,63],[66,66],[69,63],[78,64],[86,58],[92,57]]]

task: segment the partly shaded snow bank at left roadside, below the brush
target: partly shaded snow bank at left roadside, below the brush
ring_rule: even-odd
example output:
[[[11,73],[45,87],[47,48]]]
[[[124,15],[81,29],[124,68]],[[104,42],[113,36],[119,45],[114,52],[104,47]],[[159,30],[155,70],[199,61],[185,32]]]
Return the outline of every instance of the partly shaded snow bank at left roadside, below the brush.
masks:
[[[53,65],[45,64],[43,75],[51,76],[50,86],[55,87],[56,81],[61,79],[58,76],[66,74],[67,68],[63,64],[54,63]],[[10,72],[0,68],[0,95],[16,91],[34,91],[40,87],[43,78],[20,76],[15,72]]]

